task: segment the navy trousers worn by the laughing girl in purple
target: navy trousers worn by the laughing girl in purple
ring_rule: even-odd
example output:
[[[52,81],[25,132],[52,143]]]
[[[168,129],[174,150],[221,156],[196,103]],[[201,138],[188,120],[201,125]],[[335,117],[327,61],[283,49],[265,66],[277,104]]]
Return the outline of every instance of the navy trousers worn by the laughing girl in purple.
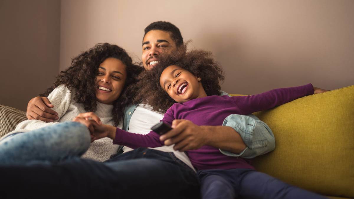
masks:
[[[251,169],[210,169],[198,171],[202,199],[272,198],[324,199]]]

